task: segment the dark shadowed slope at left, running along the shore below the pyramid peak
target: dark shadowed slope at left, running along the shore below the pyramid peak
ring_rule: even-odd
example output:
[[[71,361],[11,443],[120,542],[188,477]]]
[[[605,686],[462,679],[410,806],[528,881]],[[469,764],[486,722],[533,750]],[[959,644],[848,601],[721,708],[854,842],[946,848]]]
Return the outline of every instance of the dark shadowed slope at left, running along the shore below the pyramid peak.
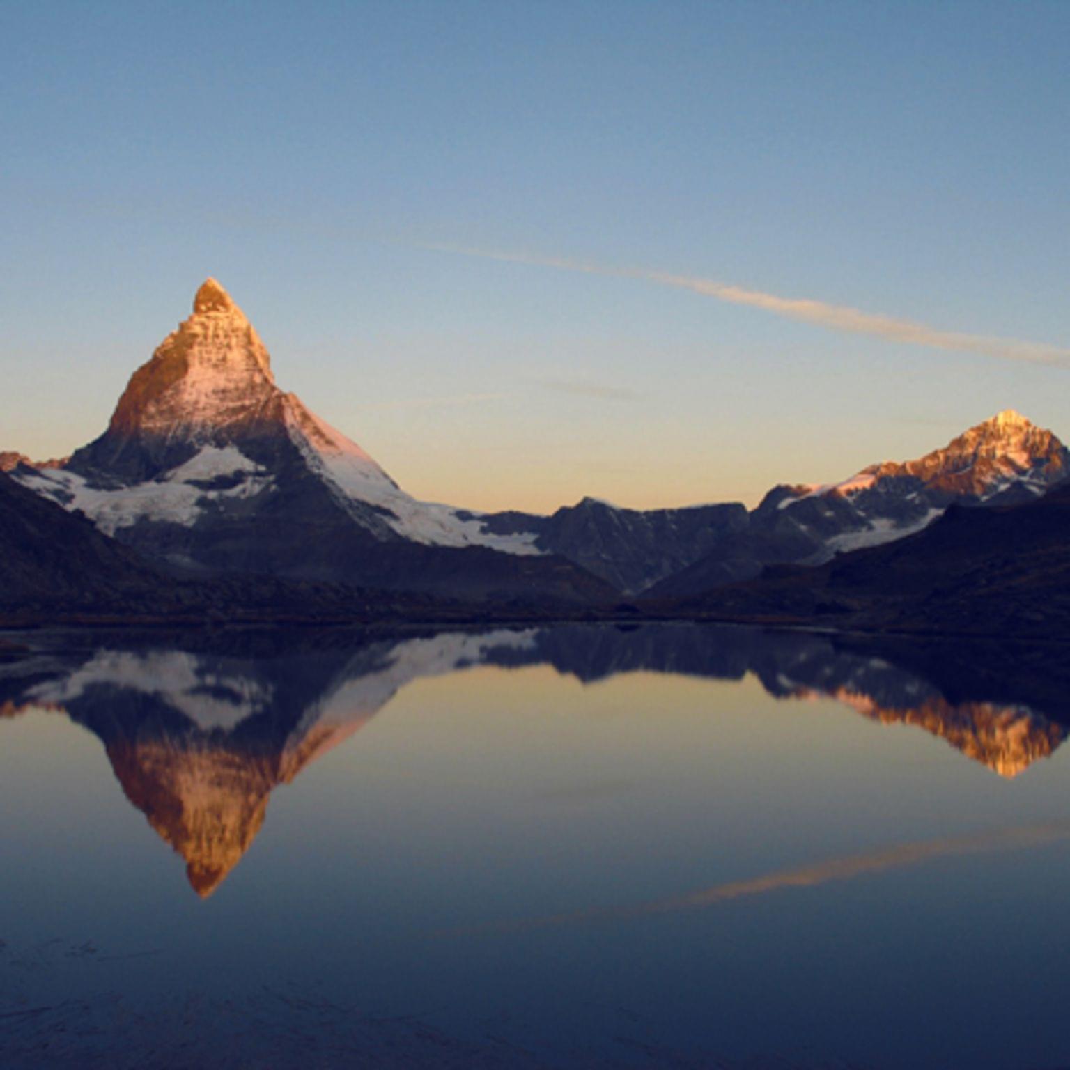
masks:
[[[80,513],[68,513],[0,473],[0,624],[537,618],[586,605],[578,599],[577,570],[568,563],[561,563],[561,590],[568,597],[559,598],[552,583],[537,597],[518,594],[516,566],[499,569],[504,554],[488,550],[413,546],[384,557],[369,562],[369,569],[387,579],[391,568],[422,571],[427,585],[438,582],[443,591],[460,595],[435,597],[276,577],[185,578],[104,535]],[[520,567],[528,560],[520,559]],[[542,560],[538,580],[531,578],[532,588],[553,564]],[[501,583],[496,590],[495,579]],[[587,592],[592,602],[612,594],[593,578]]]

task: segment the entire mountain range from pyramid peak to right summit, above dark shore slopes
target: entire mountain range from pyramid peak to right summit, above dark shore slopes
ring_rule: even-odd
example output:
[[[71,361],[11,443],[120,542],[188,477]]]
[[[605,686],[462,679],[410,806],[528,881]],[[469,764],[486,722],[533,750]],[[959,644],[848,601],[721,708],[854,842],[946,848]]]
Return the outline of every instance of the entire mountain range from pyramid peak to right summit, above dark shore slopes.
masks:
[[[123,569],[142,581],[150,569],[180,582],[259,577],[485,606],[582,607],[637,597],[697,605],[705,592],[781,565],[835,571],[844,554],[922,532],[949,508],[1038,501],[1066,478],[1068,453],[1051,431],[1007,411],[918,460],[872,464],[839,484],[778,486],[751,510],[638,510],[585,498],[536,516],[419,502],[276,385],[256,331],[209,279],[193,315],[134,373],[100,438],[63,460],[0,454],[3,471],[138,555],[105,552],[78,529],[78,553],[98,561],[105,586],[121,585]],[[0,500],[29,508],[2,483]],[[40,550],[37,571],[13,581],[24,587],[44,582],[49,567],[37,546],[47,515],[30,511],[31,526],[9,525],[5,536],[9,574]],[[79,541],[75,528],[56,523],[60,542]],[[80,560],[73,550],[68,559]],[[55,567],[65,575],[63,562]],[[91,600],[93,569],[78,575]]]

